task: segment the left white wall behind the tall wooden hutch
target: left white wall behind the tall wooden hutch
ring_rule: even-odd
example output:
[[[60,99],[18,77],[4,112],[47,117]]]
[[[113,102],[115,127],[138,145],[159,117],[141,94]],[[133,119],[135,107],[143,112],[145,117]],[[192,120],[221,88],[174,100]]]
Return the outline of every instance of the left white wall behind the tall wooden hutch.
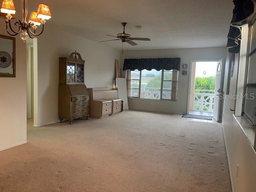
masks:
[[[38,126],[59,122],[59,57],[69,57],[75,50],[86,60],[87,88],[112,85],[120,50],[46,26],[38,37]]]

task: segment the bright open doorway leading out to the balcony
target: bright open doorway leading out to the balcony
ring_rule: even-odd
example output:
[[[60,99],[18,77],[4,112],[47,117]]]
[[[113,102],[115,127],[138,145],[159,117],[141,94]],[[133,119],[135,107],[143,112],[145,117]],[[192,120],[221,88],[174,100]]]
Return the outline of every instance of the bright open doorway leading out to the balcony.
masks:
[[[187,114],[218,120],[221,61],[192,61]],[[217,90],[216,90],[217,89]]]

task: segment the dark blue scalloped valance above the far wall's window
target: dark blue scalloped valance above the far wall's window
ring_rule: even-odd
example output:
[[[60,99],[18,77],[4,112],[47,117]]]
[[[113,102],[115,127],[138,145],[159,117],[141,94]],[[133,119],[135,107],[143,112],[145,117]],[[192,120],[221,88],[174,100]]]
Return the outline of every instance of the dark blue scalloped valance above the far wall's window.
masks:
[[[180,70],[180,58],[124,59],[123,70]]]

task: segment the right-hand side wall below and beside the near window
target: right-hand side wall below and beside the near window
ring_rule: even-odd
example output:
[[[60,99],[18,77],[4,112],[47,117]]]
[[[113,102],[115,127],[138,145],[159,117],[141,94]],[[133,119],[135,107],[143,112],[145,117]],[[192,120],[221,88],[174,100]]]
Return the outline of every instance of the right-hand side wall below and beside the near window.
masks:
[[[238,74],[238,54],[234,65],[234,75],[230,78],[229,93],[236,94]],[[225,82],[227,82],[228,62],[226,63]],[[226,90],[226,89],[224,89]],[[225,91],[225,94],[226,91]],[[225,95],[224,94],[224,95]],[[233,192],[255,192],[256,189],[256,153],[248,138],[234,119],[234,99],[225,99],[223,106],[222,126],[230,168]],[[239,168],[237,168],[239,166]]]

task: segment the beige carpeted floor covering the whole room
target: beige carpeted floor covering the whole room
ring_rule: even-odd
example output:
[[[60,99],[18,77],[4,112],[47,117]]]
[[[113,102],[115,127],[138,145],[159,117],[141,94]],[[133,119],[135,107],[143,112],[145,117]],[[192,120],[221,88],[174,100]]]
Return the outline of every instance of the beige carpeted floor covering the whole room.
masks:
[[[0,192],[231,192],[221,124],[125,111],[28,129]]]

